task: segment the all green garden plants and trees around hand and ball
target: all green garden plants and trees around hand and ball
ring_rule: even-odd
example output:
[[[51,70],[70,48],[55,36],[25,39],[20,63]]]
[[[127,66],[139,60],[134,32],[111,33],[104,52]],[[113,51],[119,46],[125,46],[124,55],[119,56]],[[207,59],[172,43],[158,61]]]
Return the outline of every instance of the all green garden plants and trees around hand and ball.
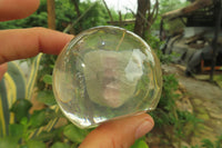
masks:
[[[52,0],[53,1],[53,0]],[[54,29],[67,33],[79,32],[97,26],[119,26],[142,37],[157,52],[162,65],[169,65],[172,56],[163,55],[164,41],[157,33],[160,30],[161,14],[182,8],[189,2],[180,0],[138,0],[140,14],[117,12],[105,7],[103,0],[54,0]],[[147,8],[142,7],[147,3]],[[0,22],[0,29],[31,27],[52,28],[48,24],[47,0],[41,0],[39,9],[26,19]],[[143,17],[141,17],[143,16]],[[124,22],[133,20],[133,22]],[[169,21],[164,29],[170,33],[181,29],[181,21]],[[0,148],[77,148],[92,129],[79,129],[65,119],[59,110],[52,92],[52,70],[57,56],[42,55],[21,60],[31,71],[27,76],[10,62],[9,71],[0,82]],[[168,148],[222,148],[222,136],[216,140],[202,139],[194,146],[190,142],[202,119],[188,110],[181,110],[176,101],[186,93],[182,91],[176,77],[163,71],[163,88],[160,102],[149,112],[155,120],[151,134],[135,141],[132,148],[152,148],[160,144]],[[158,139],[158,140],[155,140]]]

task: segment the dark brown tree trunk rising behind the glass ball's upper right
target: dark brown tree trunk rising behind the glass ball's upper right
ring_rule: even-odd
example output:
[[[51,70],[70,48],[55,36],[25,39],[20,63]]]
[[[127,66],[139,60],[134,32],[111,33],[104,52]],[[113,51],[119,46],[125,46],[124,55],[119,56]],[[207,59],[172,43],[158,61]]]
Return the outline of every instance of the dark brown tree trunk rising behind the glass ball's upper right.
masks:
[[[150,0],[138,0],[138,11],[135,16],[134,33],[143,38],[145,29],[145,13],[149,9]]]

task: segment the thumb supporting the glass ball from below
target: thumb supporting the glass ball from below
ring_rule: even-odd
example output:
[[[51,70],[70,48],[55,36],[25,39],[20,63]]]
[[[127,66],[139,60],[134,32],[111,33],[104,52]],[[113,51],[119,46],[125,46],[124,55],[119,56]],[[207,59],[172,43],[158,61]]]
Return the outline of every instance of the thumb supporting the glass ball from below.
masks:
[[[90,132],[79,148],[129,148],[153,126],[148,114],[104,122]]]

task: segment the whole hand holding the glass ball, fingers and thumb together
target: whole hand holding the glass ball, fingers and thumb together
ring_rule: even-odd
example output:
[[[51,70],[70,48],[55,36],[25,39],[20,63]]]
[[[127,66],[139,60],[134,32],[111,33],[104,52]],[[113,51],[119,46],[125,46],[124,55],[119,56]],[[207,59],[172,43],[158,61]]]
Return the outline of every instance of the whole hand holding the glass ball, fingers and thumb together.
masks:
[[[0,20],[28,17],[38,6],[39,0],[0,0]],[[44,28],[1,30],[0,79],[7,70],[6,62],[39,52],[58,55],[71,38],[73,36]],[[147,114],[104,122],[87,136],[80,148],[128,148],[153,125],[153,119]]]

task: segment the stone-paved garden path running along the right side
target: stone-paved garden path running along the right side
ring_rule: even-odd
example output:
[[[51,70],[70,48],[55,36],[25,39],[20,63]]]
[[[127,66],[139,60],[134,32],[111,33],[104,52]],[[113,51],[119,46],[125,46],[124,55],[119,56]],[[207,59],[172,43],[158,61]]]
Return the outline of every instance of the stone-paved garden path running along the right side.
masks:
[[[222,88],[215,82],[186,77],[182,66],[168,65],[162,68],[165,73],[174,73],[179,80],[179,93],[182,91],[183,97],[176,101],[176,106],[202,119],[195,131],[188,137],[189,140],[182,145],[189,148],[200,146],[203,139],[216,140],[216,137],[222,135]],[[178,148],[176,144],[173,146]],[[153,145],[151,148],[159,147]]]

